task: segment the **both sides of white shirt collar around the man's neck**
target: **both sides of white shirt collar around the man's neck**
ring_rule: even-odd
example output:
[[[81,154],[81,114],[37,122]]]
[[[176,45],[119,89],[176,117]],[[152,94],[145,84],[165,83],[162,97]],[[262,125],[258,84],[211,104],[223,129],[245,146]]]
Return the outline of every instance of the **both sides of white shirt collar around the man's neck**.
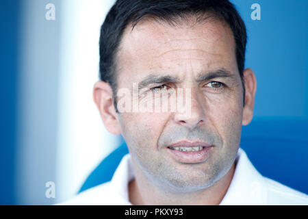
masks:
[[[132,205],[129,202],[128,185],[135,177],[131,156],[125,155],[121,160],[114,176],[112,186],[118,191],[123,205]],[[264,177],[251,164],[244,150],[239,149],[235,158],[235,171],[227,193],[220,205],[265,205],[267,198]]]

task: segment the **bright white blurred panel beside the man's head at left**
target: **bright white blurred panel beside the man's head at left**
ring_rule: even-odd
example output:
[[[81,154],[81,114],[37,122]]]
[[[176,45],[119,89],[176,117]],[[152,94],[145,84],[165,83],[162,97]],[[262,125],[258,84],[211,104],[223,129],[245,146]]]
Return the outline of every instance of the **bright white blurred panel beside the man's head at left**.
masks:
[[[101,159],[118,146],[108,133],[92,91],[99,79],[99,34],[114,1],[62,1],[57,129],[57,201],[77,193]]]

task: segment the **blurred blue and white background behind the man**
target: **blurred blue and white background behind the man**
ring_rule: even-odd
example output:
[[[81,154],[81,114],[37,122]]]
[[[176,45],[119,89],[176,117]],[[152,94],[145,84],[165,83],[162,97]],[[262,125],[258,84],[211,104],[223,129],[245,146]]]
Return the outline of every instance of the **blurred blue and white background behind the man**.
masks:
[[[264,153],[272,163],[259,162],[258,169],[307,193],[308,1],[232,2],[248,31],[245,66],[257,77],[255,118],[243,127],[245,150],[258,162],[255,155],[271,144],[255,136],[273,132],[270,140],[281,145],[275,150],[285,160]],[[45,18],[48,3],[55,5],[54,21]],[[104,129],[91,96],[98,79],[99,25],[112,3],[1,1],[1,205],[49,205],[69,198],[120,144],[119,136]],[[253,3],[261,6],[260,21],[251,19]],[[275,165],[276,173],[268,170]],[[280,178],[285,171],[290,177]],[[296,171],[301,179],[292,177]],[[55,182],[55,198],[45,196],[47,181]]]

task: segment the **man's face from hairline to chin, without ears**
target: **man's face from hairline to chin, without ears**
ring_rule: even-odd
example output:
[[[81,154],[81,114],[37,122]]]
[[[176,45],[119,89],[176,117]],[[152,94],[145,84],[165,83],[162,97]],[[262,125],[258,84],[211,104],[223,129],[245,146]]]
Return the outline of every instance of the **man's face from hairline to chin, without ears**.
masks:
[[[117,118],[135,170],[178,192],[208,188],[223,177],[242,129],[243,88],[231,29],[218,20],[191,24],[141,21],[133,31],[126,29],[117,56],[118,90],[132,91],[133,83],[151,76],[144,92],[155,87],[191,91],[190,114],[123,112]],[[202,149],[187,152],[179,146]]]

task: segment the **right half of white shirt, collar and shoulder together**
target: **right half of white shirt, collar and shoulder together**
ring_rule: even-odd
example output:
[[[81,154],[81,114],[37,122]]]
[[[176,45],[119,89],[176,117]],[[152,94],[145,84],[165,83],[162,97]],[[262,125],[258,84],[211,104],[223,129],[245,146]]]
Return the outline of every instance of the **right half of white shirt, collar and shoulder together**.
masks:
[[[261,175],[242,149],[239,150],[237,161],[231,192],[240,192],[242,197],[246,197],[241,198],[240,203],[245,199],[246,204],[253,205],[308,205],[307,194]]]

